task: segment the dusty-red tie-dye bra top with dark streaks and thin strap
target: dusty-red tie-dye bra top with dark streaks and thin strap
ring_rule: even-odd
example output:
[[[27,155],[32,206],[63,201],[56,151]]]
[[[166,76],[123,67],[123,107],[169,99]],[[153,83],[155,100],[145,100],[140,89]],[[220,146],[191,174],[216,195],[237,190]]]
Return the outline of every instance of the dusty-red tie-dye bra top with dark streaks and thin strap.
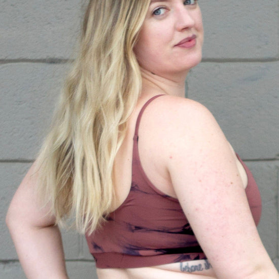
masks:
[[[176,198],[158,190],[148,179],[138,154],[138,127],[151,98],[138,115],[133,138],[130,192],[103,224],[86,235],[98,268],[133,268],[206,259]],[[239,159],[239,158],[238,158]],[[239,159],[240,160],[240,159]],[[261,197],[251,171],[246,194],[255,223],[261,215]]]

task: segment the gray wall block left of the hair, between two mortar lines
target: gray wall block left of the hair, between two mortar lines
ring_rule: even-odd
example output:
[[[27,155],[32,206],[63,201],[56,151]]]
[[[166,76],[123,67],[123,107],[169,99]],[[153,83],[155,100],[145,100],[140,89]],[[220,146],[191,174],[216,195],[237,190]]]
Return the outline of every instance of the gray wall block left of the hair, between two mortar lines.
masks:
[[[34,159],[48,130],[64,64],[0,65],[0,159]]]

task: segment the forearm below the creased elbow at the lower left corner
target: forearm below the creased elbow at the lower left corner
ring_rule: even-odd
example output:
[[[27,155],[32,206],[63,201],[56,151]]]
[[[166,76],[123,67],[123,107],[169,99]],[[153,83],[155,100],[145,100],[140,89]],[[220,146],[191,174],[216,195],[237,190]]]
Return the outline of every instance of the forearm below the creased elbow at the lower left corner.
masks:
[[[57,226],[28,227],[8,221],[20,263],[28,279],[67,279]]]

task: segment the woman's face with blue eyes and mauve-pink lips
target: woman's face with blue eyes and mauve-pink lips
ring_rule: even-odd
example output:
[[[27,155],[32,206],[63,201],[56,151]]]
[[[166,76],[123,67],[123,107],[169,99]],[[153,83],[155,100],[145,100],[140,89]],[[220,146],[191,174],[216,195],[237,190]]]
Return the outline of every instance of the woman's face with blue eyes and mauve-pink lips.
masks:
[[[187,74],[201,60],[202,43],[196,0],[151,0],[134,52],[140,66],[156,75]]]

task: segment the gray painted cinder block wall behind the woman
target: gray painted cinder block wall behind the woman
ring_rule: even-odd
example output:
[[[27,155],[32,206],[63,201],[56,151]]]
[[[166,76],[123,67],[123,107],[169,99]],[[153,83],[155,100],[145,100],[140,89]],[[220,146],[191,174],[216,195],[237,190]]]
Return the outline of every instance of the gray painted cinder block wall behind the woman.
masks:
[[[1,278],[25,278],[5,215],[49,124],[73,53],[81,1],[0,2]],[[186,95],[212,111],[251,168],[263,199],[259,232],[279,269],[279,1],[199,3],[204,58],[187,78]],[[63,242],[69,276],[96,278],[84,237],[63,232]]]

